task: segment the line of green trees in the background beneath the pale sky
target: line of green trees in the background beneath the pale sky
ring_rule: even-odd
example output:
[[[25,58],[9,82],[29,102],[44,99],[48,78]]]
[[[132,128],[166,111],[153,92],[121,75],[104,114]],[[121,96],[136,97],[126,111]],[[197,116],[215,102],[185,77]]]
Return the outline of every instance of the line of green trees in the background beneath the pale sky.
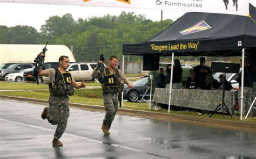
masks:
[[[116,55],[122,59],[122,44],[150,39],[171,25],[166,19],[152,21],[134,12],[122,12],[119,16],[79,18],[70,13],[52,16],[38,32],[32,26],[0,26],[0,44],[45,44],[66,45],[73,48],[76,61],[98,61],[100,53],[105,57]],[[129,61],[140,61],[141,57],[130,56]]]

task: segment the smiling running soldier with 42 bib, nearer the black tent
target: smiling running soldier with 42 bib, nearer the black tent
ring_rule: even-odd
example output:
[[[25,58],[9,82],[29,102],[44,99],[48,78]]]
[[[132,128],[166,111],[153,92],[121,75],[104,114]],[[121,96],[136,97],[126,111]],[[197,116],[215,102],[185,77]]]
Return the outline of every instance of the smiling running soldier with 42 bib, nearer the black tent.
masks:
[[[124,83],[132,88],[132,84],[130,84],[122,71],[116,68],[118,62],[117,56],[110,56],[108,62],[109,66],[104,68],[103,73],[96,67],[91,75],[92,77],[102,77],[100,81],[102,83],[102,97],[106,110],[102,131],[105,135],[110,135],[109,129],[117,112],[118,94],[123,91]],[[99,61],[99,64],[103,64],[103,61]]]

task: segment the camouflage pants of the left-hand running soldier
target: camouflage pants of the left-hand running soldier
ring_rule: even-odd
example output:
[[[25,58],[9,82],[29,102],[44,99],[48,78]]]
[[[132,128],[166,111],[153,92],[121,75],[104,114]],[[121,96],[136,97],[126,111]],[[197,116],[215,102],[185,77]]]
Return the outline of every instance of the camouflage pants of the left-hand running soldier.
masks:
[[[59,139],[65,132],[66,125],[68,124],[69,97],[50,95],[46,118],[52,125],[58,125],[54,137]]]

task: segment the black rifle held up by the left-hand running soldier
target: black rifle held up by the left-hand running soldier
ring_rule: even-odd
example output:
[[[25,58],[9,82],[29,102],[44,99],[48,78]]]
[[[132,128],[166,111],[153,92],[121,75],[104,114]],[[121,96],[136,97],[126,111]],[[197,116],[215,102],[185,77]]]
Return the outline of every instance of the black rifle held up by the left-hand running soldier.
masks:
[[[45,45],[45,47],[43,48],[43,51],[41,52],[41,53],[44,54],[44,56],[45,56],[45,52],[48,51],[48,50],[46,49],[47,44],[48,44],[48,41],[46,42],[46,45]],[[44,64],[44,56],[41,56],[41,55],[40,55],[41,53],[39,53],[39,54],[37,55],[36,59],[34,60],[34,62],[36,62],[36,66],[35,66],[35,69],[34,69],[34,71],[33,71],[33,77],[36,78],[37,84],[39,84],[39,82],[38,82],[38,73],[39,73],[41,67],[43,67],[43,64]]]

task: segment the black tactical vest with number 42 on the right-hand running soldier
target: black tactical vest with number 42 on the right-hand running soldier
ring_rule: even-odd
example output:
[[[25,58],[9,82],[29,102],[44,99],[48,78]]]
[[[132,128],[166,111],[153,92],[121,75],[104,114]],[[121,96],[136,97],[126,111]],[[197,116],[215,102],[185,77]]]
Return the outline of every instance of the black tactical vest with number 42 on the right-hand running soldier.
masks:
[[[105,68],[105,77],[103,81],[103,91],[106,93],[116,93],[122,92],[124,89],[124,84],[121,84],[121,78],[118,69],[114,68],[114,74],[110,73],[109,68]]]

